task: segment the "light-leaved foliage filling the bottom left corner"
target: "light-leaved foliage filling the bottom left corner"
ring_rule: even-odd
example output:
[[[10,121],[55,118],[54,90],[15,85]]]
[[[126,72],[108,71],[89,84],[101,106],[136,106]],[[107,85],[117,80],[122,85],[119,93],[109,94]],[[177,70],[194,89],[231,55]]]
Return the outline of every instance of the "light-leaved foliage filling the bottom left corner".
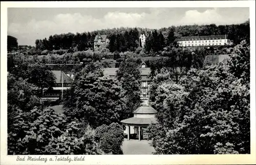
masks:
[[[78,135],[81,129],[77,120],[67,123],[65,116],[53,109],[17,111],[8,126],[8,154],[103,154],[90,130]]]

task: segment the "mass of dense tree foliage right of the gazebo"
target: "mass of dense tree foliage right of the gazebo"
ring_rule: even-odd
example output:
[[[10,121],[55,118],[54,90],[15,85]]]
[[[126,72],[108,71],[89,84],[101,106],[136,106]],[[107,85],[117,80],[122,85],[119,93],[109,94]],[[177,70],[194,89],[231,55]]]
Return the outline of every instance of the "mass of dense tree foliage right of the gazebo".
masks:
[[[148,128],[157,154],[250,153],[249,50],[243,41],[226,64],[159,83]]]

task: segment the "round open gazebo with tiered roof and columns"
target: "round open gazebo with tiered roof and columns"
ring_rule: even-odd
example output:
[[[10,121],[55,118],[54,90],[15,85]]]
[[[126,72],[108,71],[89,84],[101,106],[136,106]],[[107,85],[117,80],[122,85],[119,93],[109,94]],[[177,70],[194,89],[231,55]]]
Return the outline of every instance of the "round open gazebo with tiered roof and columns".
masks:
[[[122,125],[125,125],[127,128],[127,140],[130,140],[131,127],[134,128],[134,133],[139,135],[139,140],[143,139],[143,130],[150,124],[156,124],[155,114],[157,111],[149,105],[142,105],[137,108],[134,112],[134,116],[122,120]]]

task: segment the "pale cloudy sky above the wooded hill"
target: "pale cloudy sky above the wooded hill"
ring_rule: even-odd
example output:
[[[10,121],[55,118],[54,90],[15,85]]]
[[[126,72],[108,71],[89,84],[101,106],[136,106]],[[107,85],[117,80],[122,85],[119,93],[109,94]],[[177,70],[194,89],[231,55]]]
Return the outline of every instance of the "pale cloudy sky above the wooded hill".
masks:
[[[8,35],[19,45],[61,33],[118,27],[159,29],[178,25],[230,25],[249,18],[249,8],[8,8]]]

